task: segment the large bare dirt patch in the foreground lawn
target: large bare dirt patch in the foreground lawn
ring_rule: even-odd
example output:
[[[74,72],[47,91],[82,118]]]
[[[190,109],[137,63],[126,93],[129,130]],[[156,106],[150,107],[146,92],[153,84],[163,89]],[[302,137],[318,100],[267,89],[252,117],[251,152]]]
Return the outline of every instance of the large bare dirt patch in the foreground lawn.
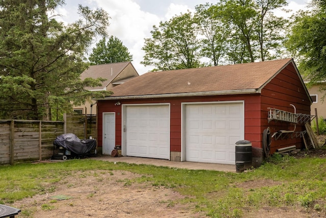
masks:
[[[56,185],[54,192],[16,201],[16,217],[205,217],[172,189],[129,182],[141,175],[125,171],[80,172]],[[46,184],[44,184],[46,186]],[[62,199],[62,200],[58,200]]]

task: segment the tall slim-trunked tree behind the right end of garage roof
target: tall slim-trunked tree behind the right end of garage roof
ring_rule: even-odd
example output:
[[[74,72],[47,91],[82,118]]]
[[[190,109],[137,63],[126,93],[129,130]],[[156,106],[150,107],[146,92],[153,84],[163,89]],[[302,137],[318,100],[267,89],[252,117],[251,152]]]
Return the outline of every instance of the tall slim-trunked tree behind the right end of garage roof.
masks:
[[[274,16],[273,10],[285,5],[285,0],[225,0],[217,6],[222,10],[224,22],[230,23],[232,34],[246,45],[250,61],[254,62],[281,56],[287,20]]]

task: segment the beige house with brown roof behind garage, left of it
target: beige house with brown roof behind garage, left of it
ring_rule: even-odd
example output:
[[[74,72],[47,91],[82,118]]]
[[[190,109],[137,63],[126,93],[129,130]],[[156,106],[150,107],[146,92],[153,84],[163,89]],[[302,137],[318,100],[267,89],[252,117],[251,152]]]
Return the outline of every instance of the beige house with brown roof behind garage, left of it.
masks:
[[[102,82],[101,86],[98,87],[88,87],[90,91],[102,91],[111,90],[113,87],[120,85],[134,77],[139,76],[138,72],[135,70],[131,62],[119,62],[110,64],[99,64],[91,65],[80,75],[80,79],[85,78],[103,78],[106,81]],[[96,104],[95,101],[86,102],[85,105],[74,106],[74,112],[79,114],[85,113],[85,108],[87,108],[87,114],[96,114]],[[91,107],[92,105],[92,107]]]

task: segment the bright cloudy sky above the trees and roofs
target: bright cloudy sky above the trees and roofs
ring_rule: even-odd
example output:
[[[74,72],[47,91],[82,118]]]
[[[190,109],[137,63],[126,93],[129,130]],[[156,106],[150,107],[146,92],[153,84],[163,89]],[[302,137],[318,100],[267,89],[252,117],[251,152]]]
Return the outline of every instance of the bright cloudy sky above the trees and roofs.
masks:
[[[103,8],[111,17],[108,34],[118,37],[128,48],[133,56],[133,66],[142,75],[153,68],[140,64],[144,56],[142,51],[144,38],[151,37],[153,25],[158,25],[159,21],[169,20],[187,10],[194,11],[196,5],[216,2],[216,0],[66,0],[66,5],[58,8],[56,13],[62,15],[60,17],[62,21],[70,23],[78,18],[78,4],[89,6],[91,9]],[[288,3],[286,9],[297,11],[305,9],[307,1],[295,0]],[[281,10],[276,13],[279,16],[288,16]]]

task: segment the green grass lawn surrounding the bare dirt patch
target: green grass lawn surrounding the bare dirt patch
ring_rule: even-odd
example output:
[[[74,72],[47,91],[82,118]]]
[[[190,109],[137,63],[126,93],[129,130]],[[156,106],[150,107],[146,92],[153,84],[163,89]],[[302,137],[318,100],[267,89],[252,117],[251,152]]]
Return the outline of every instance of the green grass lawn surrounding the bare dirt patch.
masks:
[[[302,207],[326,215],[326,158],[282,157],[244,173],[189,170],[94,159],[0,166],[0,204],[10,205],[36,194],[53,192],[74,172],[96,169],[130,171],[142,177],[127,183],[165,186],[186,196],[175,203],[195,205],[210,217],[243,217],[244,208]],[[47,183],[44,187],[42,184]]]

